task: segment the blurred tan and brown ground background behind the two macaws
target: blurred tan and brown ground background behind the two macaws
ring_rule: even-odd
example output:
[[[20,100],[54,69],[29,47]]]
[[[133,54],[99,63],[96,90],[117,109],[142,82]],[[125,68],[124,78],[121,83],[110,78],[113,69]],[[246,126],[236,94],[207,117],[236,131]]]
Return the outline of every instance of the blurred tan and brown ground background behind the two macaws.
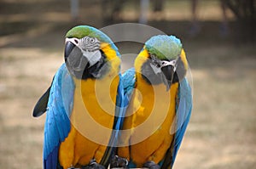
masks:
[[[124,22],[176,35],[187,53],[194,109],[174,168],[256,168],[254,0],[0,0],[0,168],[42,168],[45,115],[32,109],[66,32]],[[117,46],[128,68],[143,44]]]

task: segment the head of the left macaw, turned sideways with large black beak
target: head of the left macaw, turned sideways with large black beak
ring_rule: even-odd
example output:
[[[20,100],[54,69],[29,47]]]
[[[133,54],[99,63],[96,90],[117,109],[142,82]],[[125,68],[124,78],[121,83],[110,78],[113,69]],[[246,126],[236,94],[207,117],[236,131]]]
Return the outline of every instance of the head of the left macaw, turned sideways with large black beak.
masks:
[[[67,31],[64,58],[69,72],[78,79],[100,78],[108,70],[102,44],[119,55],[110,38],[94,27],[79,25]]]

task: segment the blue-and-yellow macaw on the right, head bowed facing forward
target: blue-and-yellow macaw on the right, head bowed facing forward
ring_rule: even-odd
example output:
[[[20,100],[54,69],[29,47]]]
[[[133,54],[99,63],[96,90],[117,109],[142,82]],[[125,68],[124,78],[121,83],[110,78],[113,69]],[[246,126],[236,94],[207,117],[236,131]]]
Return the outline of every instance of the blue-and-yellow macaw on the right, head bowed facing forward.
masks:
[[[122,165],[115,164],[124,167],[126,160],[130,168],[172,168],[192,109],[185,77],[189,64],[181,41],[167,35],[151,37],[134,68],[136,80],[127,85],[133,92],[114,160]]]

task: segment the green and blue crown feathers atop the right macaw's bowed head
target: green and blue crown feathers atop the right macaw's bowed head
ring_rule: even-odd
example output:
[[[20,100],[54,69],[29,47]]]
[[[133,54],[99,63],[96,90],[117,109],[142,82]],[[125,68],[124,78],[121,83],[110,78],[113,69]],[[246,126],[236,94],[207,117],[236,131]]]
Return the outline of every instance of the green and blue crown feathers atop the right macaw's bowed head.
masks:
[[[149,54],[154,54],[158,59],[177,59],[181,54],[183,45],[175,36],[158,35],[151,37],[145,47]]]

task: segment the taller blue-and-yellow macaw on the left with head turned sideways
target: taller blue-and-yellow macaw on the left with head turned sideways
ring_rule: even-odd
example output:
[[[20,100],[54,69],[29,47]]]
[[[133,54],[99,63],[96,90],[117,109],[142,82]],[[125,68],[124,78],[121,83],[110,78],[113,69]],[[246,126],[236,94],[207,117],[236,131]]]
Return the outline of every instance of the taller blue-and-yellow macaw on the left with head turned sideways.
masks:
[[[119,51],[88,25],[67,31],[65,45],[65,63],[33,110],[47,112],[44,169],[107,168],[125,104]]]

